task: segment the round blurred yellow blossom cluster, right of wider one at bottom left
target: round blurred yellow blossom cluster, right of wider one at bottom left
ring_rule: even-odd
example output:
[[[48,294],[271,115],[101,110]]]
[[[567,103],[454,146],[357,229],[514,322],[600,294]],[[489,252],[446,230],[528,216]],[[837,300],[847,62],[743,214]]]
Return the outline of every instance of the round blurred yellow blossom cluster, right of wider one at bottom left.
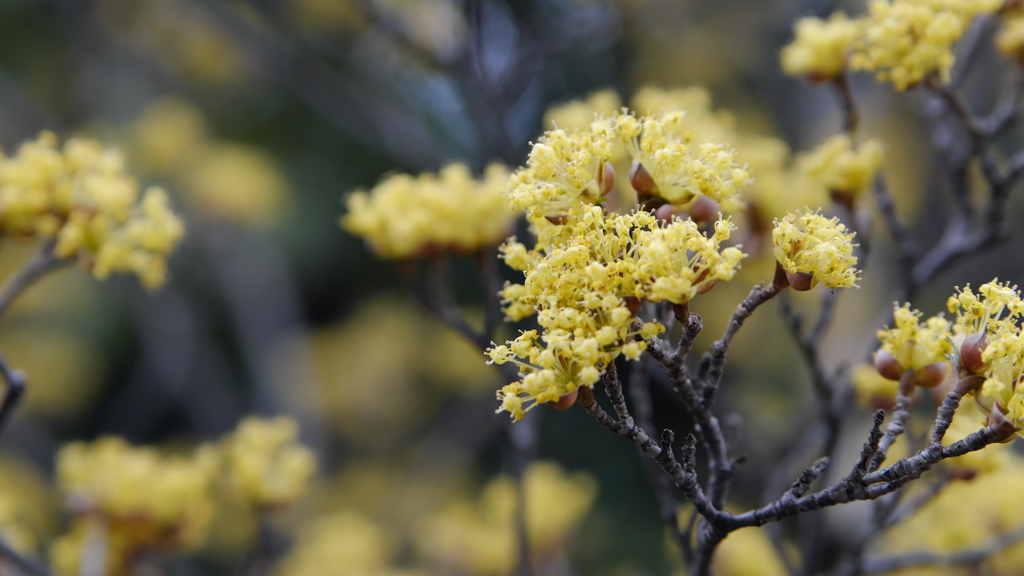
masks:
[[[290,418],[247,418],[221,441],[225,478],[246,504],[281,508],[305,493],[316,460],[298,434]]]

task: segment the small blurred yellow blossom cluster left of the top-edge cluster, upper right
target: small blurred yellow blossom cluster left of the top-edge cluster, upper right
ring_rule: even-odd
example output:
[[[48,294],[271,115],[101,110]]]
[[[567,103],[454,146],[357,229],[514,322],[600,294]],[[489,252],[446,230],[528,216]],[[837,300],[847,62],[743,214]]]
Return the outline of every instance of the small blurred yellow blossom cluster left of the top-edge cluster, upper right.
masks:
[[[783,72],[812,80],[843,74],[853,40],[859,33],[856,20],[844,12],[834,12],[828,19],[800,18],[794,29],[796,38],[781,52]]]

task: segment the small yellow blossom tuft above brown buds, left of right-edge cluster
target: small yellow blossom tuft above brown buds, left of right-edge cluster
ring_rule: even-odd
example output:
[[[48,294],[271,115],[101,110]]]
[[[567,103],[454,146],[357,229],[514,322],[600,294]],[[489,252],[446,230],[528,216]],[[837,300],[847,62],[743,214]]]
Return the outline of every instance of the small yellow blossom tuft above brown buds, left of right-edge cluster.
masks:
[[[879,330],[882,349],[892,355],[898,368],[889,374],[899,379],[904,370],[920,371],[926,367],[942,364],[945,368],[946,355],[952,353],[952,332],[949,321],[933,316],[921,322],[922,314],[911,311],[910,304],[896,305],[893,311],[893,328]]]

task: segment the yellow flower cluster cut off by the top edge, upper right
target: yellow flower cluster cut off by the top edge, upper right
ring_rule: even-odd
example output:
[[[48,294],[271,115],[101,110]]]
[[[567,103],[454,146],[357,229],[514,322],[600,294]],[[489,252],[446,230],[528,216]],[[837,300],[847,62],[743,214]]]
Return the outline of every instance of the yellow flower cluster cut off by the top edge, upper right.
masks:
[[[953,45],[971,19],[1001,6],[1002,0],[872,0],[850,66],[876,72],[897,90],[931,74],[948,82]]]

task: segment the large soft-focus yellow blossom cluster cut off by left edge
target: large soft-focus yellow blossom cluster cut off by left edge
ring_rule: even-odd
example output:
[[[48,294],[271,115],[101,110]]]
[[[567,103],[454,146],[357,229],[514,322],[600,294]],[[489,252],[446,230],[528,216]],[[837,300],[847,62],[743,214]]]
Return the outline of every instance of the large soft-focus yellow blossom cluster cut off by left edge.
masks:
[[[58,257],[77,256],[96,278],[131,273],[150,288],[163,284],[184,234],[164,191],[151,188],[138,202],[118,151],[87,139],[58,149],[50,132],[0,158],[0,229],[55,239]]]

